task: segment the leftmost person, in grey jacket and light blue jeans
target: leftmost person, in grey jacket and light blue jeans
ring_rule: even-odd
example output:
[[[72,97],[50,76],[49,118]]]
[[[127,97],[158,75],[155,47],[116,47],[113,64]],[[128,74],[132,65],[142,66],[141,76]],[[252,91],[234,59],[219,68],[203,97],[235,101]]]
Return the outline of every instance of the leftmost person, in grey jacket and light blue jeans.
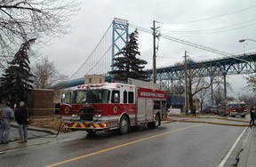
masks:
[[[14,113],[10,107],[11,103],[7,102],[6,107],[1,111],[2,120],[0,121],[0,143],[7,144],[10,142],[9,133],[11,130],[11,120],[14,119]]]

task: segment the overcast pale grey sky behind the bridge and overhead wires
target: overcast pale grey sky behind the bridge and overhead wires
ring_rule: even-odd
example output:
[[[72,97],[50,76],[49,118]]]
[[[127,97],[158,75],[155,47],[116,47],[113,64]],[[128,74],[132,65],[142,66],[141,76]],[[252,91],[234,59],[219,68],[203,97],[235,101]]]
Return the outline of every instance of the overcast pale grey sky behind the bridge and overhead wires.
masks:
[[[41,49],[61,74],[71,76],[83,64],[114,18],[150,30],[153,20],[162,35],[232,54],[256,52],[256,2],[254,0],[80,0],[81,10],[70,19],[71,33]],[[131,31],[134,29],[130,28]],[[130,31],[130,33],[131,33]],[[184,60],[210,60],[221,55],[159,38],[156,68]],[[140,59],[152,68],[152,35],[139,30]],[[234,79],[235,78],[235,79]],[[239,79],[237,79],[239,78]],[[240,79],[241,78],[241,79]],[[243,93],[243,76],[228,76],[234,94]],[[241,91],[241,92],[239,92]]]

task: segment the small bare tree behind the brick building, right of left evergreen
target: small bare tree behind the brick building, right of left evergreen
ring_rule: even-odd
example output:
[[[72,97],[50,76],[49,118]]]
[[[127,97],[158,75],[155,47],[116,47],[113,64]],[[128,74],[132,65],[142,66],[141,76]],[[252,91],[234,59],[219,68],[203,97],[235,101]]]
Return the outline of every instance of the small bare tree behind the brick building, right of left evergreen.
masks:
[[[67,80],[68,76],[61,75],[55,68],[53,61],[48,57],[36,61],[35,67],[32,68],[33,75],[35,76],[35,87],[38,89],[45,89],[60,81]]]

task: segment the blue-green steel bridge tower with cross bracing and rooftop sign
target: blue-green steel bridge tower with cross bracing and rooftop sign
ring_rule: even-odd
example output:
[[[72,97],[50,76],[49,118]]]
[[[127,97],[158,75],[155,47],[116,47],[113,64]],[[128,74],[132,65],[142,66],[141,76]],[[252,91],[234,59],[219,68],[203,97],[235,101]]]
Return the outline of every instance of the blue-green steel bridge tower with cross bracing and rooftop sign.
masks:
[[[122,20],[114,18],[112,29],[112,65],[114,64],[114,58],[117,52],[120,52],[126,44],[128,44],[128,20]],[[114,67],[111,68],[114,70]]]

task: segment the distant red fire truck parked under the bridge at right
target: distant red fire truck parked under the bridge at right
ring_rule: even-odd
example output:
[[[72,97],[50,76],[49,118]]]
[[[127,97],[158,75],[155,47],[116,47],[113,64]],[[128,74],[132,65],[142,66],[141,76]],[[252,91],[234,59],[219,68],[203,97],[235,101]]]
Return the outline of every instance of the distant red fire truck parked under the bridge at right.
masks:
[[[239,115],[241,117],[245,117],[245,115],[247,115],[246,105],[244,101],[240,101],[240,100],[229,101],[227,105],[226,103],[222,103],[220,104],[218,110],[219,110],[219,114],[224,116]]]

